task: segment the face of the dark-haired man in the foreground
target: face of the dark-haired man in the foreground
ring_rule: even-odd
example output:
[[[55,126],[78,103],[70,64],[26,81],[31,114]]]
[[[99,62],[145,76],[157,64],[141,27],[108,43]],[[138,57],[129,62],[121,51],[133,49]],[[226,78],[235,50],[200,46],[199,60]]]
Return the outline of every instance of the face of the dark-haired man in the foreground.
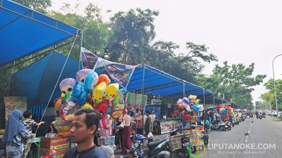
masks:
[[[81,143],[93,137],[96,126],[87,129],[85,119],[86,114],[76,115],[71,122],[70,137],[73,143]]]

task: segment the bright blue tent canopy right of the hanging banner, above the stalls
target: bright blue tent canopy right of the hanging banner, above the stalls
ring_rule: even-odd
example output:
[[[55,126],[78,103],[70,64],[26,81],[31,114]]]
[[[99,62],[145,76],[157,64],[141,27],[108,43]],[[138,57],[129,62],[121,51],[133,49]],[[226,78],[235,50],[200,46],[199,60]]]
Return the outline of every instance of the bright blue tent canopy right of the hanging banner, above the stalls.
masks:
[[[144,93],[172,98],[183,98],[183,83],[185,86],[185,96],[196,95],[198,98],[212,96],[211,91],[171,76],[154,67],[146,64],[135,68],[133,75],[128,83],[127,90],[141,93],[144,71]],[[203,101],[202,101],[203,103]]]

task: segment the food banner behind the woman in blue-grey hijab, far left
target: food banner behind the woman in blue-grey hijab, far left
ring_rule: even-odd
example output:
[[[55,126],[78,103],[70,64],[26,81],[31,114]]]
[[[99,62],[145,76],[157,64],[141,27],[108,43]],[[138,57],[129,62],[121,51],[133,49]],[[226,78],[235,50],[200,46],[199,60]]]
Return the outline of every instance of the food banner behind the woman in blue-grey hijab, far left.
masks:
[[[5,103],[5,122],[13,110],[20,110],[22,113],[27,109],[27,100],[25,96],[4,96]]]

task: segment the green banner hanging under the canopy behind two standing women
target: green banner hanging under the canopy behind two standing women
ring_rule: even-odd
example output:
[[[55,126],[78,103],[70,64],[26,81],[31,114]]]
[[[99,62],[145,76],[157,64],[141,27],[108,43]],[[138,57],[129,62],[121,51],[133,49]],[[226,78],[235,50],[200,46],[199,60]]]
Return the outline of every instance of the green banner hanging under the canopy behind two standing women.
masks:
[[[142,100],[143,103],[146,105],[147,103],[147,96],[141,94],[134,94],[134,93],[126,93],[126,108],[130,111],[135,111],[136,108],[142,108]],[[142,99],[141,99],[142,98]]]

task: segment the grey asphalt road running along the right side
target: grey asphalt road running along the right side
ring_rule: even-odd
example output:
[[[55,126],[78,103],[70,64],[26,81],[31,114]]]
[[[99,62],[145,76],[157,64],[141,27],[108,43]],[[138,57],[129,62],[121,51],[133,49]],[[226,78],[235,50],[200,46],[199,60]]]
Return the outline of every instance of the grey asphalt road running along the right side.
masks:
[[[247,127],[249,136],[244,135]],[[201,155],[202,158],[282,157],[282,122],[274,122],[268,118],[246,119],[230,131],[212,131],[209,138],[206,151],[196,152],[194,155]],[[179,153],[173,157],[184,156]]]

